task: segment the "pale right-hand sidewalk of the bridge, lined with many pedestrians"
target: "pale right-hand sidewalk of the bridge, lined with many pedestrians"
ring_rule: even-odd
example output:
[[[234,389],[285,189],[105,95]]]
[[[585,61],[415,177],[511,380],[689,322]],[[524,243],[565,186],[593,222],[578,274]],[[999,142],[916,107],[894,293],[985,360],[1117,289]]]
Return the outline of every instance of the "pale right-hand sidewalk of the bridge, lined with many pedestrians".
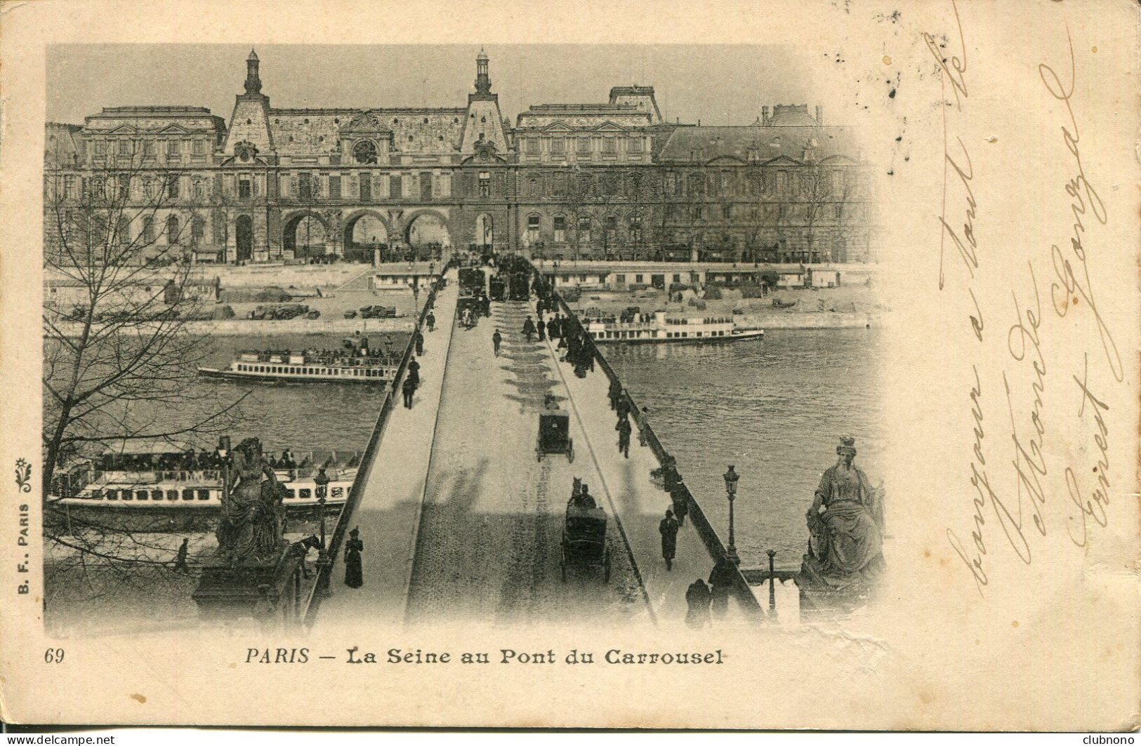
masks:
[[[550,341],[548,346],[551,346]],[[583,448],[581,457],[591,457],[597,463],[602,478],[602,489],[598,492],[607,496],[622,524],[657,623],[661,626],[683,624],[686,590],[698,577],[709,581],[714,559],[687,520],[678,532],[673,569],[665,569],[657,527],[673,504],[670,496],[650,481],[649,472],[658,467],[657,460],[648,446],[638,445],[637,427],[630,437],[630,457],[618,453],[618,433],[614,429],[617,414],[610,410],[607,397],[609,380],[601,367],[596,365],[585,379],[576,378],[568,363],[558,363],[558,371],[570,394],[572,411],[590,446],[590,453]],[[745,613],[730,597],[729,615],[722,624],[747,623]],[[714,626],[718,626],[715,618]]]

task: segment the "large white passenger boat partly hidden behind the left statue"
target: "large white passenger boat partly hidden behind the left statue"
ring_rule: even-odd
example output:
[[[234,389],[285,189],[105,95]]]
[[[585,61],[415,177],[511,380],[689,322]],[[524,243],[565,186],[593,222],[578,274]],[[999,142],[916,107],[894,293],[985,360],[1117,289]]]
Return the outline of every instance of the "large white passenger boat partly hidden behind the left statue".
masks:
[[[289,468],[275,467],[286,516],[319,514],[315,478],[322,467],[329,477],[325,509],[340,510],[359,461],[356,452],[309,452]],[[116,441],[95,459],[71,463],[51,493],[47,505],[57,520],[130,530],[209,530],[221,511],[222,464],[217,454],[185,444]]]

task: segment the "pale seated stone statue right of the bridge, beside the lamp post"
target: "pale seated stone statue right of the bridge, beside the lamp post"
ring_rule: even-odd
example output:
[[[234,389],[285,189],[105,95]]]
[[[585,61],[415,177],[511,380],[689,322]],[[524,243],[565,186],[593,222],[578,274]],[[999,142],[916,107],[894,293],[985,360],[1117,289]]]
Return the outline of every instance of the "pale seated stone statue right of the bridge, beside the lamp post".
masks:
[[[809,557],[830,583],[868,584],[884,569],[882,493],[852,463],[855,438],[841,437],[836,454],[808,511]]]

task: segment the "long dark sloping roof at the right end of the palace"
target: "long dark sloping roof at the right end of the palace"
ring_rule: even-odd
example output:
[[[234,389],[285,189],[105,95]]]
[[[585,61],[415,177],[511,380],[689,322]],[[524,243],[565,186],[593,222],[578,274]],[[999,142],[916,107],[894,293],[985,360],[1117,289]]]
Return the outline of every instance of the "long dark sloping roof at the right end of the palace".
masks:
[[[659,162],[710,163],[733,159],[742,163],[768,163],[787,159],[802,163],[804,151],[822,162],[859,160],[855,133],[844,127],[682,127],[670,135],[658,153]],[[841,157],[843,156],[843,157]]]

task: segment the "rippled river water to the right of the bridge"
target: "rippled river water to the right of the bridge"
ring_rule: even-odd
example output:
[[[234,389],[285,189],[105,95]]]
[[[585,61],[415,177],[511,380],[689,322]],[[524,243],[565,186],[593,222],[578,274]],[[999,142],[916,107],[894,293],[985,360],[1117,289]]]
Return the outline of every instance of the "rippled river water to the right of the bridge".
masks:
[[[767,566],[768,549],[777,567],[799,567],[804,513],[841,435],[856,438],[856,463],[872,484],[882,478],[880,338],[876,330],[778,330],[755,342],[612,344],[602,354],[638,406],[649,407],[654,432],[722,541],[721,475],[736,467],[742,567]]]

